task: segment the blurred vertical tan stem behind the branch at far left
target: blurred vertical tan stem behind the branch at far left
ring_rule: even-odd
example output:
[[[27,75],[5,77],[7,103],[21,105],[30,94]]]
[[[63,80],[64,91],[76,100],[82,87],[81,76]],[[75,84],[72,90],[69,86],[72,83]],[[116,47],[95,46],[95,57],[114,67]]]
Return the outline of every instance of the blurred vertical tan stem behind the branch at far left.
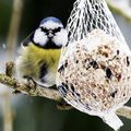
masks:
[[[10,24],[8,41],[7,41],[8,59],[14,59],[14,47],[16,45],[19,27],[22,17],[22,9],[23,9],[23,0],[13,0],[11,24]],[[10,64],[9,68],[5,70],[5,74],[8,76],[12,75],[12,70],[10,70],[12,67],[13,64]],[[3,96],[3,98],[4,98],[3,99],[4,131],[12,131],[13,117],[12,117],[12,108],[11,108],[11,96],[8,91],[5,93],[5,96]]]

